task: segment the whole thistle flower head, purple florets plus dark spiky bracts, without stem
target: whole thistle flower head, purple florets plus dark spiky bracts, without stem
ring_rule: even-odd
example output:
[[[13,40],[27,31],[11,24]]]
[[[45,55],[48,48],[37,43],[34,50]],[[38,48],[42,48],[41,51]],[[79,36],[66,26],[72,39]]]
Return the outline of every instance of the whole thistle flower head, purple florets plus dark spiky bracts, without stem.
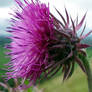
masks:
[[[74,70],[75,62],[86,73],[85,62],[79,55],[86,56],[84,48],[89,47],[82,44],[81,40],[86,35],[77,36],[77,31],[81,28],[86,14],[78,23],[78,18],[73,21],[65,8],[66,19],[56,9],[63,22],[60,22],[50,13],[49,7],[39,1],[25,5],[20,0],[15,0],[20,6],[20,10],[15,11],[15,18],[11,19],[12,25],[8,27],[12,34],[12,42],[7,48],[11,52],[11,62],[8,64],[7,73],[10,78],[29,79],[29,85],[22,85],[22,88],[30,87],[42,75],[43,78],[50,78],[60,69],[64,72],[64,80],[69,78]],[[23,82],[24,83],[24,82]]]

